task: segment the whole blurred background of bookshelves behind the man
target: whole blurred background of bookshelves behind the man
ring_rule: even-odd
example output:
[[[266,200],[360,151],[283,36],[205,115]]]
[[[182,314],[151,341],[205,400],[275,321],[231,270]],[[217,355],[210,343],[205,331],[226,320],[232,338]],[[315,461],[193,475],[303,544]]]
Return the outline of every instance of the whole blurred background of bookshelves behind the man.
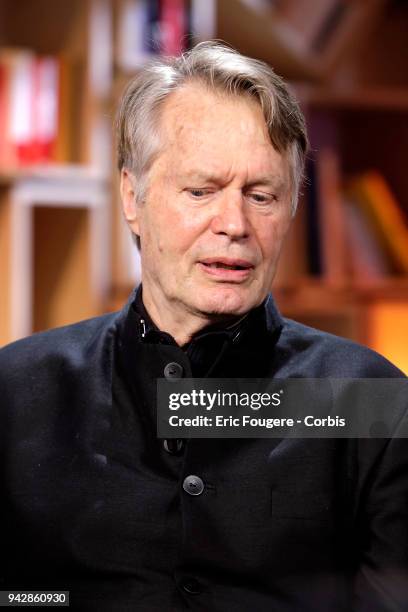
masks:
[[[126,301],[115,106],[152,55],[211,38],[270,63],[307,118],[282,312],[408,372],[404,0],[0,0],[0,345]]]

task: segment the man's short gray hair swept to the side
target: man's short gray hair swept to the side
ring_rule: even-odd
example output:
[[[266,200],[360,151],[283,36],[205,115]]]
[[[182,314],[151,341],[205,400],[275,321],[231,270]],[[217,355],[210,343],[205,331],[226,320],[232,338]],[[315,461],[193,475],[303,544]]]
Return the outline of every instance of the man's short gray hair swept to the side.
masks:
[[[118,166],[134,175],[137,199],[145,197],[147,174],[160,152],[160,109],[187,82],[259,101],[273,146],[288,155],[294,213],[307,151],[299,105],[270,66],[216,41],[199,43],[178,57],[159,57],[128,84],[116,120]]]

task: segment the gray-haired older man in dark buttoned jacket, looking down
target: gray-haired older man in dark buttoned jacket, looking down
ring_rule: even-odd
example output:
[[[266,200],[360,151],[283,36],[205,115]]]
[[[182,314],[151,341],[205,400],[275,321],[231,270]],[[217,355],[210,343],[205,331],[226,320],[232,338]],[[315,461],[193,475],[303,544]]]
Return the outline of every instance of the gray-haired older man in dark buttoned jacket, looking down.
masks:
[[[405,440],[173,439],[156,380],[392,378],[268,295],[307,148],[265,64],[215,43],[147,65],[118,114],[142,286],[0,354],[4,589],[81,610],[407,610]]]

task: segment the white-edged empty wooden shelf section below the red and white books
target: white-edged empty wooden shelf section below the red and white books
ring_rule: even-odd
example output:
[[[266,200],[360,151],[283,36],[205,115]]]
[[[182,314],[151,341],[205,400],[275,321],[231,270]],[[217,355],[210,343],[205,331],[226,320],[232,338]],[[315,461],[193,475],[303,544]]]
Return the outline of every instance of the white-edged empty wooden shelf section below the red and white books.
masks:
[[[99,314],[109,289],[106,181],[49,170],[0,186],[0,344]]]

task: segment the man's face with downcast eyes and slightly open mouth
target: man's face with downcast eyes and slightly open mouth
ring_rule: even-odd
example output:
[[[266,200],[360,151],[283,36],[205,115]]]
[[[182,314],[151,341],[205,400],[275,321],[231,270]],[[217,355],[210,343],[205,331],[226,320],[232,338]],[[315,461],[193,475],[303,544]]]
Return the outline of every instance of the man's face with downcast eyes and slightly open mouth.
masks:
[[[140,235],[145,303],[179,320],[239,316],[270,290],[290,224],[288,163],[249,98],[190,84],[166,101]]]

